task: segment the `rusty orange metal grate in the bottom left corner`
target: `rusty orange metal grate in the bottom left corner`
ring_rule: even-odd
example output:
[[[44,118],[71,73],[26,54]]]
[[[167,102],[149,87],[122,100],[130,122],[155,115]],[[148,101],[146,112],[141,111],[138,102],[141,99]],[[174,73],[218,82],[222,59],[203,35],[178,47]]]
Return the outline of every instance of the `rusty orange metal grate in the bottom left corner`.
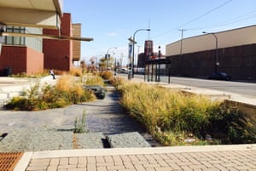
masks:
[[[23,152],[0,152],[0,170],[13,171]]]

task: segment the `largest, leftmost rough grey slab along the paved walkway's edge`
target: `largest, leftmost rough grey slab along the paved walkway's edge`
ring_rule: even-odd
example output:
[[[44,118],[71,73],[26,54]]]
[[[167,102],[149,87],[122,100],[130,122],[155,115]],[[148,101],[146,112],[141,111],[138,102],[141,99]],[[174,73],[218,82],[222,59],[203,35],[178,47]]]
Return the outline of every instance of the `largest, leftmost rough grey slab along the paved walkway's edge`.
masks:
[[[48,128],[12,130],[0,141],[0,151],[53,151],[72,149],[73,132]]]

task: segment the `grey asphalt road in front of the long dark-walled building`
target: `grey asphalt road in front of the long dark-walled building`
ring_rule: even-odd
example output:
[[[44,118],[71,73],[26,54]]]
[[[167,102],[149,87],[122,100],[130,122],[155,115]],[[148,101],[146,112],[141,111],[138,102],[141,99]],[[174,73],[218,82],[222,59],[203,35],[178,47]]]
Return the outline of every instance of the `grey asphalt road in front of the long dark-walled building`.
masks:
[[[135,75],[134,77],[144,79],[143,75]],[[160,81],[167,83],[168,77],[160,77]],[[220,90],[256,98],[256,83],[218,81],[189,77],[171,77],[171,83],[181,84],[188,87],[191,86],[197,88]]]

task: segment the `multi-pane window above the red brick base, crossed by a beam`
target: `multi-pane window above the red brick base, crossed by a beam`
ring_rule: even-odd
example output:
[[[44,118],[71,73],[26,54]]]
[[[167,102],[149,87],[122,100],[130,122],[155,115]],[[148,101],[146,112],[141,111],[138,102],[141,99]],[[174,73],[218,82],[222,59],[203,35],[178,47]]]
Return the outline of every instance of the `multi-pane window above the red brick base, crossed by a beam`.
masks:
[[[20,26],[7,26],[7,32],[25,33],[26,28]],[[25,45],[25,37],[6,37],[5,44],[10,45]]]

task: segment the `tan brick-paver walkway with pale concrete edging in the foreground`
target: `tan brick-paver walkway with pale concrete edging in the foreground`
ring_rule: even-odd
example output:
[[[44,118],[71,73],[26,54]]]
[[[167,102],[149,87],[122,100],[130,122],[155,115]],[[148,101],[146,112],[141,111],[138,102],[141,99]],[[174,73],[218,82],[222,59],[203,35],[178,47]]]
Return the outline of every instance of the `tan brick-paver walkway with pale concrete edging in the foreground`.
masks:
[[[15,171],[256,170],[256,145],[26,152]]]

